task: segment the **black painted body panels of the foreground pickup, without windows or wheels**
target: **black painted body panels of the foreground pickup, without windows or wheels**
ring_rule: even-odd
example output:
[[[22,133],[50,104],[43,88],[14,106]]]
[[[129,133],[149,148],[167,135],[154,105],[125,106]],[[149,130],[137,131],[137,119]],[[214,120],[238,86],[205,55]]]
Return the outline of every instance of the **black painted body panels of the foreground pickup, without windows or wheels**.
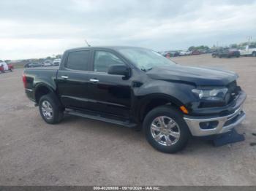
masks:
[[[142,122],[148,104],[156,100],[167,101],[177,109],[186,106],[191,116],[220,116],[234,112],[240,106],[239,99],[246,96],[240,89],[236,97],[228,103],[203,106],[204,103],[192,93],[192,89],[205,86],[229,87],[233,84],[236,86],[238,75],[231,71],[178,64],[156,67],[144,72],[119,54],[117,49],[118,47],[84,47],[67,50],[58,67],[25,69],[26,94],[38,103],[37,90],[47,87],[56,93],[66,108],[113,114],[134,122]],[[77,50],[90,51],[89,71],[65,68],[67,55]],[[130,76],[125,78],[121,75],[94,72],[95,50],[112,52],[127,64]],[[62,76],[67,76],[68,79],[63,79]],[[99,82],[90,82],[90,79],[98,79]]]

